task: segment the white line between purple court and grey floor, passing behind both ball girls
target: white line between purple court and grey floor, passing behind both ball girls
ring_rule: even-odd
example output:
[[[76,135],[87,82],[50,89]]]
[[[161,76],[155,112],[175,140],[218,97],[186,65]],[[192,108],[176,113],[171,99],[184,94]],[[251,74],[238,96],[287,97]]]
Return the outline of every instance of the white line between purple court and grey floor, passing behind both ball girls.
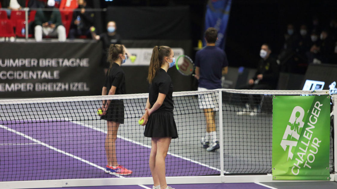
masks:
[[[96,131],[100,131],[100,132],[105,133],[105,134],[108,133],[108,132],[106,132],[106,131],[104,131],[104,130],[102,130],[102,129],[93,127],[93,126],[88,125],[88,124],[84,124],[84,123],[82,123],[81,121],[73,121],[73,120],[70,120],[70,119],[68,119],[68,118],[64,118],[64,119],[65,119],[65,121],[72,122],[72,123],[74,123],[74,124],[76,124],[76,125],[85,126],[85,127],[87,127],[87,128],[90,128],[90,129],[93,129],[93,130],[96,130]],[[137,141],[131,140],[131,139],[129,139],[129,138],[122,137],[122,136],[120,136],[120,135],[117,135],[117,137],[120,138],[120,139],[129,141],[129,142],[132,142],[132,143],[134,143],[134,144],[138,144],[138,145],[141,145],[141,146],[144,146],[144,147],[147,147],[147,148],[151,148],[150,145],[143,144],[143,143],[141,143],[141,142],[137,142]],[[208,168],[210,168],[210,169],[217,170],[217,171],[220,172],[220,169],[218,169],[218,168],[216,168],[216,167],[213,167],[213,166],[210,166],[210,165],[207,165],[207,164],[205,164],[205,163],[201,163],[201,162],[198,162],[198,161],[195,161],[195,160],[191,160],[191,159],[189,159],[189,158],[186,158],[186,157],[183,157],[183,156],[180,156],[180,155],[177,155],[177,154],[173,154],[173,153],[170,153],[170,152],[167,152],[167,154],[169,154],[169,155],[171,155],[171,156],[174,156],[174,157],[177,157],[177,158],[181,158],[181,159],[190,161],[190,162],[192,162],[192,163],[196,163],[196,164],[199,164],[199,165],[208,167]],[[230,172],[227,172],[227,171],[224,171],[224,172],[225,172],[225,173],[230,173]]]

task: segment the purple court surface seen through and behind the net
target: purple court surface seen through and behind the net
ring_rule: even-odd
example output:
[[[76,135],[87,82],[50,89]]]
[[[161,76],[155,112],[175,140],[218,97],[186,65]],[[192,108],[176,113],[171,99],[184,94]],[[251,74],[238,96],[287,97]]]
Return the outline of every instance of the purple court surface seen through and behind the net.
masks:
[[[115,178],[104,172],[105,133],[65,120],[0,121],[0,181]],[[133,173],[124,177],[151,177],[148,167],[150,148],[118,138],[117,158]],[[168,155],[167,176],[196,176],[212,169],[186,158]],[[181,171],[181,170],[188,171]]]

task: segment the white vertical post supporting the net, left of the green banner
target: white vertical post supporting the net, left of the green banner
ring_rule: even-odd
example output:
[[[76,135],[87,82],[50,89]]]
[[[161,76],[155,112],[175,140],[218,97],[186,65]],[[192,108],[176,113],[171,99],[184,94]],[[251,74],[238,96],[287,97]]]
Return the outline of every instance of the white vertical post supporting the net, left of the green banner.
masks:
[[[218,91],[219,95],[219,135],[220,135],[220,177],[221,182],[224,182],[224,159],[223,159],[223,124],[222,124],[222,89]]]

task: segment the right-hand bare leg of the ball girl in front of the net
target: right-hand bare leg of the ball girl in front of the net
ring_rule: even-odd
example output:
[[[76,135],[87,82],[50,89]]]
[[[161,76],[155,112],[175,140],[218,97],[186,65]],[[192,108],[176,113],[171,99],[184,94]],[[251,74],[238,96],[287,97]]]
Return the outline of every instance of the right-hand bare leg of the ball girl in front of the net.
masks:
[[[168,146],[170,146],[172,137],[157,138],[157,154],[156,154],[156,165],[155,170],[158,175],[160,188],[165,189],[167,187],[165,178],[165,158],[168,151]]]

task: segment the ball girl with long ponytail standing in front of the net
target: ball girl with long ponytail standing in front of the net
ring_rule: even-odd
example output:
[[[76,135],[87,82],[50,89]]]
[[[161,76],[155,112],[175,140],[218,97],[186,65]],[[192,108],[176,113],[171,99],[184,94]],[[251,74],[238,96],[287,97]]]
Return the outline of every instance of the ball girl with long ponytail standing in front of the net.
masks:
[[[165,157],[172,138],[178,138],[173,118],[173,85],[167,70],[175,64],[173,50],[155,46],[150,61],[149,97],[143,117],[144,136],[151,137],[150,169],[154,189],[172,189],[166,184]]]

